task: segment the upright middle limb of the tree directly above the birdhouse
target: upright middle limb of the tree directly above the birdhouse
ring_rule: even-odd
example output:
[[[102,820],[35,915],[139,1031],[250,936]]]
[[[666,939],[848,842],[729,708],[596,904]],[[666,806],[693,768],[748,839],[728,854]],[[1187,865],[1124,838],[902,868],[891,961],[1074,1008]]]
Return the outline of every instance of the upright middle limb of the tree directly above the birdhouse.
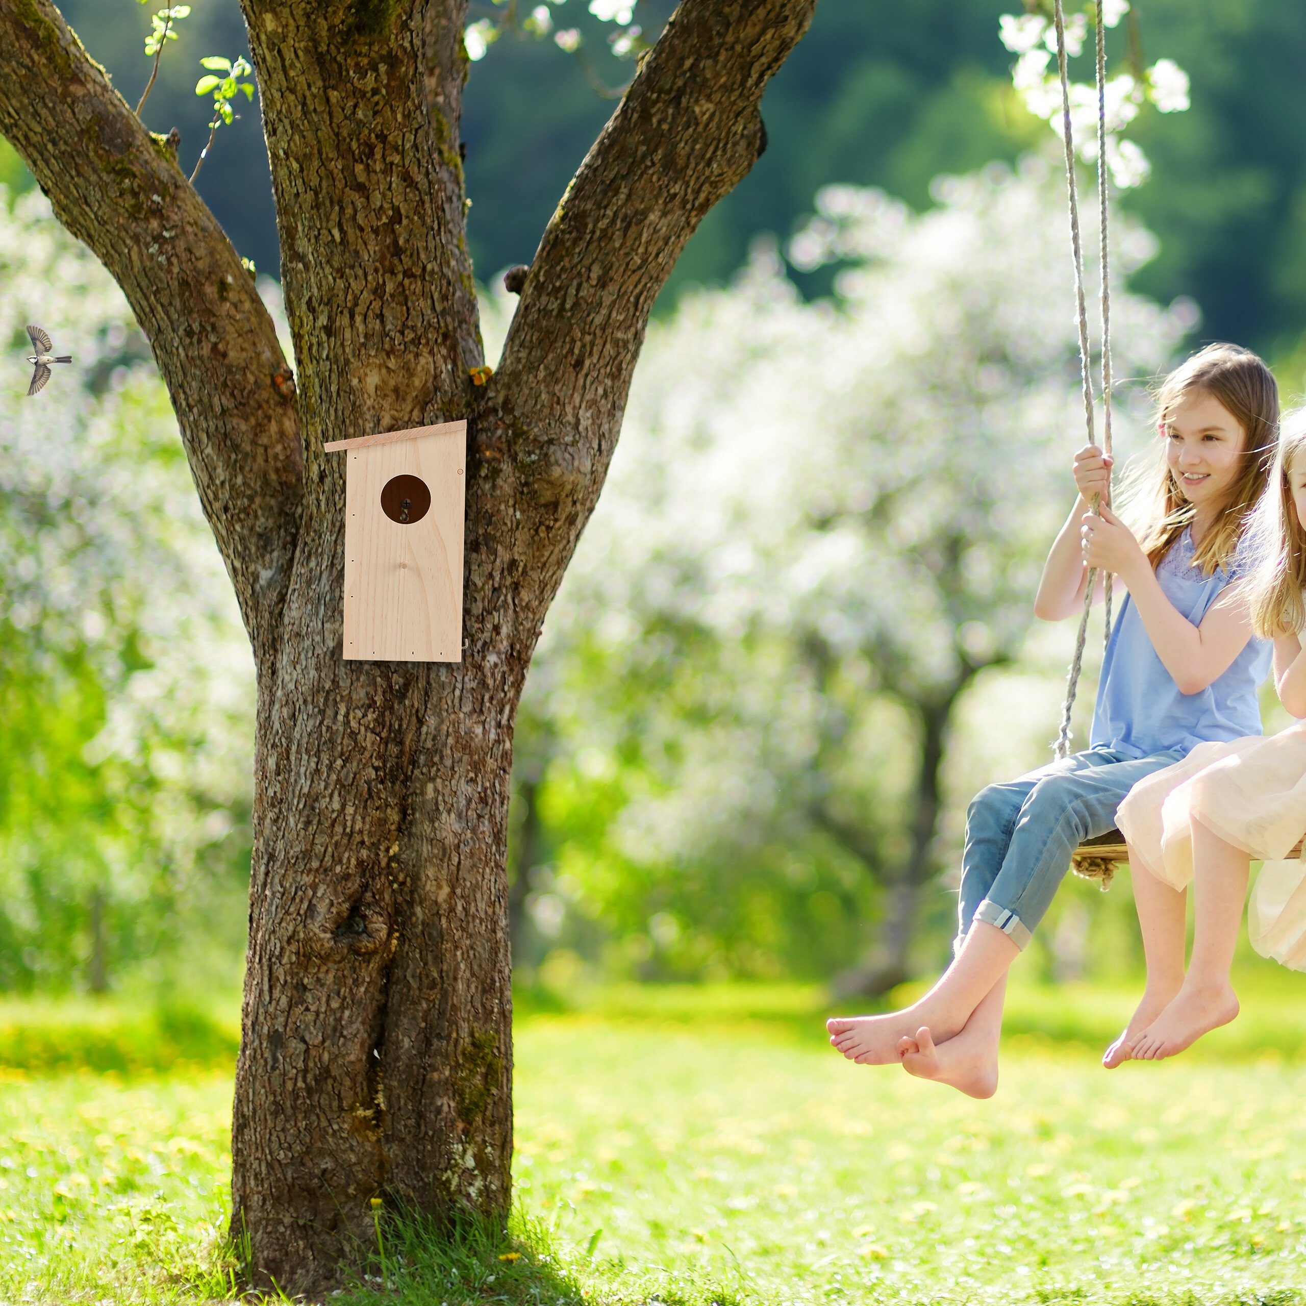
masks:
[[[482,360],[458,118],[466,0],[242,0],[259,76],[312,511],[321,440],[466,414]],[[347,347],[324,343],[347,332]]]

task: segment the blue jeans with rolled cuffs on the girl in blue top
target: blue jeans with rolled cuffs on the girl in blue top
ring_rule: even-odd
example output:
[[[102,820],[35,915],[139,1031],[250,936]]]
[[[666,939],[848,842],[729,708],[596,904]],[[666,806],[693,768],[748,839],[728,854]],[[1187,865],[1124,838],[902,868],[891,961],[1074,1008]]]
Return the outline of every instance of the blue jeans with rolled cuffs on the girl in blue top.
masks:
[[[1182,756],[1091,748],[982,789],[966,814],[956,946],[972,921],[987,921],[1024,948],[1075,849],[1115,824],[1121,801],[1144,776]]]

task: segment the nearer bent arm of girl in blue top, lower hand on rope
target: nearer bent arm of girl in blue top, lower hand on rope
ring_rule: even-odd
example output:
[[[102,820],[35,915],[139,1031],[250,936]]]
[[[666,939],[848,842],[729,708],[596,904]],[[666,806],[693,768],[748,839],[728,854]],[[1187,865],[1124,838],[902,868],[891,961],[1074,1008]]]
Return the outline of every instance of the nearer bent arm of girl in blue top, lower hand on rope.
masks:
[[[1114,572],[1128,585],[1152,648],[1181,693],[1200,693],[1229,670],[1251,639],[1251,614],[1242,585],[1226,586],[1202,624],[1194,626],[1165,597],[1139,542],[1110,508],[1104,508],[1100,517],[1084,517],[1083,538],[1085,560]]]

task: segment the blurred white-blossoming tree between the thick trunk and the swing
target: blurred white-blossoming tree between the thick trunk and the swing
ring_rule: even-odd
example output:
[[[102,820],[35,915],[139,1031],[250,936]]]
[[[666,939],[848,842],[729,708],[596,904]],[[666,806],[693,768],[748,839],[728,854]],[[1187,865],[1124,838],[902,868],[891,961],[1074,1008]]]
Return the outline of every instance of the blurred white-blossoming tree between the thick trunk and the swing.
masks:
[[[1030,159],[935,200],[828,188],[789,253],[837,266],[833,300],[763,246],[653,330],[528,684],[552,759],[521,797],[554,845],[530,901],[555,935],[569,893],[637,969],[906,978],[969,798],[944,769],[970,748],[959,708],[1037,665],[1029,596],[1083,439],[1049,293],[1059,179]],[[1122,223],[1122,276],[1153,251]],[[1118,303],[1128,447],[1192,310]],[[1053,714],[1008,765],[1040,760]],[[925,914],[947,929],[942,895]]]

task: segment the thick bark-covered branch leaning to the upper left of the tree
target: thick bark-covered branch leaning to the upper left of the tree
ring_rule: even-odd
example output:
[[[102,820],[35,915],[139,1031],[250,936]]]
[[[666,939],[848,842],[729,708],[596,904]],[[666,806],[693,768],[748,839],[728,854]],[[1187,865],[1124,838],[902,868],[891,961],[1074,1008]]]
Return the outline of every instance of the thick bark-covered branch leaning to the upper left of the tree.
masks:
[[[0,0],[0,132],[149,337],[256,657],[270,654],[303,468],[290,370],[249,274],[51,0]]]

